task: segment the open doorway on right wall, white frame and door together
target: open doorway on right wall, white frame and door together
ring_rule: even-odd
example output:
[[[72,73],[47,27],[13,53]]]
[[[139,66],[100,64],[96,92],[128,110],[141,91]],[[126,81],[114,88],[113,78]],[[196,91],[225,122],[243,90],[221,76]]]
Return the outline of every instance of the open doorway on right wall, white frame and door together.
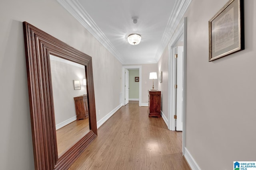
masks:
[[[186,146],[186,45],[187,45],[187,18],[170,42],[170,65],[168,86],[168,128],[172,131],[182,131],[182,154]],[[177,55],[176,55],[177,54]],[[175,58],[178,57],[178,58]],[[180,59],[180,60],[177,60]],[[179,89],[179,91],[177,91]],[[178,115],[177,112],[178,111]],[[178,121],[176,120],[179,119]],[[178,122],[178,128],[176,124]]]

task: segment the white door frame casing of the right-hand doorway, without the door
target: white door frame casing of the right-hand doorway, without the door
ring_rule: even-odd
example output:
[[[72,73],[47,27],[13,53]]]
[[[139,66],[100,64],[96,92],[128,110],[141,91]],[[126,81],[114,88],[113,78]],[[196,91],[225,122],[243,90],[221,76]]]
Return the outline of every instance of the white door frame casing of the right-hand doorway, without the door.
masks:
[[[183,51],[183,131],[182,131],[182,154],[184,155],[184,149],[186,146],[186,58],[187,58],[187,18],[185,17],[182,24],[177,29],[178,31],[173,36],[172,41],[169,43],[169,61],[168,61],[168,129],[175,131],[176,122],[174,119],[176,100],[174,98],[174,85],[175,85],[175,66],[174,66],[174,47],[178,43],[180,37],[184,36],[184,51]]]

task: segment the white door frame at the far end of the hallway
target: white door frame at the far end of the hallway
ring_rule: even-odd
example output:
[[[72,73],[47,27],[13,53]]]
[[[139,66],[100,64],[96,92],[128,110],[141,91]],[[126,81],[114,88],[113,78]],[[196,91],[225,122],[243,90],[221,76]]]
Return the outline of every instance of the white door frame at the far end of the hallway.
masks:
[[[125,85],[125,69],[134,69],[134,70],[139,70],[139,106],[141,106],[141,98],[142,98],[142,66],[123,66],[123,69],[122,69],[122,106],[124,106],[125,104],[125,88],[124,88],[124,85]]]

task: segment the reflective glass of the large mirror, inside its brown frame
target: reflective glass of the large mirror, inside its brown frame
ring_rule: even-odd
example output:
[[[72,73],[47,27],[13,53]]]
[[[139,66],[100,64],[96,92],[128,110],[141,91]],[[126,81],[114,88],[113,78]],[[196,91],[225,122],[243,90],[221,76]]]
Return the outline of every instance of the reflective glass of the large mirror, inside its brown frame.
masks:
[[[85,66],[50,55],[58,156],[90,131]]]

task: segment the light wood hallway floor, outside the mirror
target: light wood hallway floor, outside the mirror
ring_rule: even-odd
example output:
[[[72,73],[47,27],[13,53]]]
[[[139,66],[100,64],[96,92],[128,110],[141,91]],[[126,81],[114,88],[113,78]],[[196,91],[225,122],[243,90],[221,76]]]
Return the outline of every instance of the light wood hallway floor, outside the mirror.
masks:
[[[182,132],[148,117],[147,109],[132,101],[121,107],[69,170],[190,170],[182,156]]]

